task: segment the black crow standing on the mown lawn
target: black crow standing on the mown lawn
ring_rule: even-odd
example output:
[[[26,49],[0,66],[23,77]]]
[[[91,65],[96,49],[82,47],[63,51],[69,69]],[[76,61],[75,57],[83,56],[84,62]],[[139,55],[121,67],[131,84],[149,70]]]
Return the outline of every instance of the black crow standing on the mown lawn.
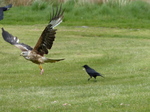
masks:
[[[90,68],[88,65],[84,65],[83,66],[86,70],[86,72],[89,74],[90,78],[88,79],[88,81],[94,77],[96,79],[97,76],[101,76],[104,78],[104,76],[102,76],[100,73],[96,72],[94,69]]]

